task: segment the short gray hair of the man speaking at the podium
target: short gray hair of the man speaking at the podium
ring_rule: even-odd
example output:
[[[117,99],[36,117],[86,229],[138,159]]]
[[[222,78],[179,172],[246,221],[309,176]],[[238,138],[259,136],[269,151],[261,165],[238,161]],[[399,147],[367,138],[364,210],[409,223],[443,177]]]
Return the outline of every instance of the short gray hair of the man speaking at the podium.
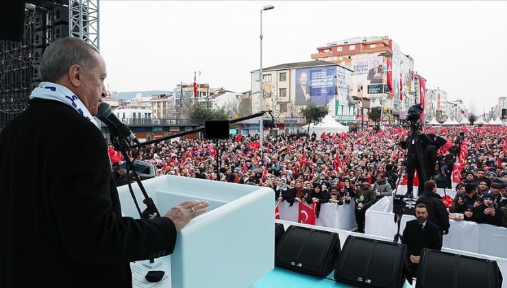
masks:
[[[40,79],[43,82],[58,82],[69,72],[73,64],[91,69],[96,64],[94,53],[99,51],[79,38],[67,37],[55,40],[42,54]]]

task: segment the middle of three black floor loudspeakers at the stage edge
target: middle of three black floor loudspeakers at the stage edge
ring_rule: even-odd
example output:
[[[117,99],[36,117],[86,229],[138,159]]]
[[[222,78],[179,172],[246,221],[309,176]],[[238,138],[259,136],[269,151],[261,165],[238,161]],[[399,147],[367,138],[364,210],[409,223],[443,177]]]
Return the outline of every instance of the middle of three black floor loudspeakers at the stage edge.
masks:
[[[359,287],[403,287],[407,247],[362,237],[347,237],[334,280]]]

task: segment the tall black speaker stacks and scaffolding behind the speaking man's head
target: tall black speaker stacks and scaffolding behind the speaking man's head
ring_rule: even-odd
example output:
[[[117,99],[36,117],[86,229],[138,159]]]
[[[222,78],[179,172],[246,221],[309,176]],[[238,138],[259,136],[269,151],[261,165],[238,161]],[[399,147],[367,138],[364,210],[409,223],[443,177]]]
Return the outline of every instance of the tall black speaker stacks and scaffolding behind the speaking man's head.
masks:
[[[24,12],[25,1],[19,2]],[[0,37],[0,130],[27,107],[30,93],[40,83],[39,64],[47,45],[69,36],[69,8],[62,1],[35,4],[35,11],[25,12],[21,40]]]

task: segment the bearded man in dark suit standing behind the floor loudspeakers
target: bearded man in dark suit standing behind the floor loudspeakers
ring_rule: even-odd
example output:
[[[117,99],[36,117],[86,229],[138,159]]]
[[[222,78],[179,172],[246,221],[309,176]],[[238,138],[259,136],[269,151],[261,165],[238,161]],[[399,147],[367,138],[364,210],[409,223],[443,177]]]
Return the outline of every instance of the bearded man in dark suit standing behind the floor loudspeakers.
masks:
[[[401,237],[401,243],[407,245],[410,274],[417,277],[421,250],[423,248],[441,250],[442,236],[440,228],[428,221],[428,206],[423,203],[417,204],[415,206],[415,217],[417,219],[407,222]]]

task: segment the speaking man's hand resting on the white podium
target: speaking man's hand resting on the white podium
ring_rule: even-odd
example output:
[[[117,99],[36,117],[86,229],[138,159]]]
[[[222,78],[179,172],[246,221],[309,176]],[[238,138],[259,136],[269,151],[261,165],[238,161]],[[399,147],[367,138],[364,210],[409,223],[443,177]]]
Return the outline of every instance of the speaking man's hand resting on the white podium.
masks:
[[[190,220],[206,212],[206,208],[208,208],[209,205],[210,203],[208,203],[208,201],[186,200],[182,204],[171,208],[164,217],[173,220],[176,230],[180,231]]]

